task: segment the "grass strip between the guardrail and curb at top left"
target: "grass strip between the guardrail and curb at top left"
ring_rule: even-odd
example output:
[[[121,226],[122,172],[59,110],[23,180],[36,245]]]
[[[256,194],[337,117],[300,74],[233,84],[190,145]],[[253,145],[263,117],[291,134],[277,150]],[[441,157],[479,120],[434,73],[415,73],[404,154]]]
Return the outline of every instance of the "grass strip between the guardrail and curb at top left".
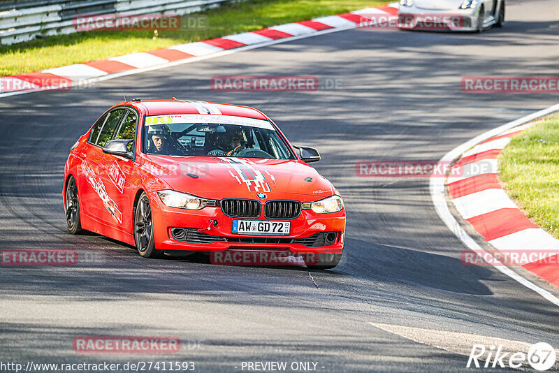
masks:
[[[145,52],[386,3],[387,0],[247,0],[204,11],[208,29],[159,31],[156,40],[152,40],[153,31],[82,31],[0,45],[0,76]]]

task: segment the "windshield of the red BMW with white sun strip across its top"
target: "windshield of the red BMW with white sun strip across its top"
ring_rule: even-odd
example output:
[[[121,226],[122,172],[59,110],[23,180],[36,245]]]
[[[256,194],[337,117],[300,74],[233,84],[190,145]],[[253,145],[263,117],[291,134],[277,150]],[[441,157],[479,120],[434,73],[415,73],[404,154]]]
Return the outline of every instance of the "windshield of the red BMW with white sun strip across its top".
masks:
[[[292,159],[270,122],[226,115],[146,117],[146,154]]]

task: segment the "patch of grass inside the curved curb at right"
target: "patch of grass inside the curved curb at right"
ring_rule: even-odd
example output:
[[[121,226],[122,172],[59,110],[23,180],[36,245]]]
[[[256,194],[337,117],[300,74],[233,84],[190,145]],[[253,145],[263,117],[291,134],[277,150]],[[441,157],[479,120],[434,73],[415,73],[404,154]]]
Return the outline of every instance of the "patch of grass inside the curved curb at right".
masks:
[[[516,136],[499,156],[504,190],[532,221],[559,238],[559,116]]]

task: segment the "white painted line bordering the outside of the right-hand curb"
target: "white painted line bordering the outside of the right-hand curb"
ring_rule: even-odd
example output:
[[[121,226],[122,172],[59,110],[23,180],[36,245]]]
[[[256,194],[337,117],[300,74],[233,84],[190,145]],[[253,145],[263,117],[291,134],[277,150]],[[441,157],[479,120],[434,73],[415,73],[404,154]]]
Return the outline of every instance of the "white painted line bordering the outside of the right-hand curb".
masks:
[[[481,141],[492,138],[493,136],[497,136],[502,131],[507,131],[521,124],[526,124],[533,119],[543,117],[544,115],[549,115],[551,114],[551,112],[556,112],[558,110],[559,104],[553,105],[550,108],[540,110],[539,112],[534,112],[530,115],[527,115],[526,117],[516,119],[515,121],[509,122],[507,124],[503,124],[502,126],[496,129],[492,129],[491,131],[487,131],[486,133],[481,133],[481,135],[464,142],[462,145],[459,145],[447,154],[444,154],[444,156],[442,156],[442,158],[440,159],[440,162],[445,164],[453,161],[454,159],[458,159],[458,156],[460,156],[460,154],[463,154],[467,149],[470,149],[470,147],[477,145]],[[447,200],[444,198],[444,177],[431,177],[429,187],[431,198],[433,198],[433,205],[435,205],[435,210],[437,211],[437,214],[439,214],[439,217],[442,219],[442,221],[444,221],[444,224],[449,227],[451,232],[454,233],[454,235],[456,235],[456,237],[458,237],[458,239],[472,251],[480,253],[481,255],[488,254],[487,251],[482,249],[481,246],[479,246],[479,244],[477,244],[477,242],[475,242],[475,240],[470,237],[470,235],[468,235],[466,231],[463,230],[458,221],[456,221],[456,219],[454,219],[454,217],[452,216],[449,210],[449,206],[447,205]],[[502,274],[511,277],[511,279],[514,279],[519,284],[522,284],[530,290],[535,291],[543,298],[553,303],[553,305],[559,307],[559,298],[551,294],[549,291],[546,291],[544,288],[540,288],[528,279],[525,279],[521,275],[518,275],[510,268],[504,267],[502,263],[497,263],[497,265],[495,266],[495,270],[498,270],[499,272],[502,272]]]

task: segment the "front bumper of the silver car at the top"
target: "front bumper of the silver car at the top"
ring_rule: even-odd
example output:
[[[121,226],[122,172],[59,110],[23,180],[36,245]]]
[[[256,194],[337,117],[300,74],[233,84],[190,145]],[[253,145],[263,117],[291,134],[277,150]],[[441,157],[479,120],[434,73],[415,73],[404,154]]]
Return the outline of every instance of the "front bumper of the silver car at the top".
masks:
[[[400,7],[398,28],[421,31],[476,31],[479,9],[426,10]]]

